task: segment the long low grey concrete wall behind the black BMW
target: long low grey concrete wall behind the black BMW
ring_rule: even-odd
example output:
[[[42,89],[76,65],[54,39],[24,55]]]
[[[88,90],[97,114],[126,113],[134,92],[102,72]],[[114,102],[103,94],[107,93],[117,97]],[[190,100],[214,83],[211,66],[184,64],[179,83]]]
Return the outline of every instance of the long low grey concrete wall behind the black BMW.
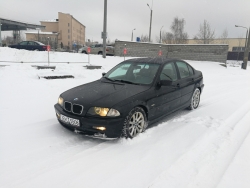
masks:
[[[227,44],[153,44],[142,42],[115,42],[115,56],[123,56],[126,44],[127,55],[130,57],[157,57],[161,49],[162,57],[179,58],[195,61],[216,61],[225,63],[227,60]],[[160,48],[161,46],[161,48]]]

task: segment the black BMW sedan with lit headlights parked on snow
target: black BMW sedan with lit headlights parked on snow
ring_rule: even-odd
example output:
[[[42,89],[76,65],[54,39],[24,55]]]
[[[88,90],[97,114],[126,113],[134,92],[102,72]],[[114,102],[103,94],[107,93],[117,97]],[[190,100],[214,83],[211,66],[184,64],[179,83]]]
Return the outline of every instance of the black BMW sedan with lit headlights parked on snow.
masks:
[[[203,76],[183,60],[137,58],[65,91],[55,104],[60,124],[99,138],[133,138],[179,109],[196,109]]]

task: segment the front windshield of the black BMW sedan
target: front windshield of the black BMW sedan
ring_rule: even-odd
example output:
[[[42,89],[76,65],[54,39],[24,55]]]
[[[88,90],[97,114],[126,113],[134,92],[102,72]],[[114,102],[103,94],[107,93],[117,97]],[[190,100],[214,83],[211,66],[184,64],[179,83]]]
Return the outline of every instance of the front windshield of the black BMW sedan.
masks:
[[[104,78],[131,84],[151,84],[159,64],[124,62],[111,69]]]

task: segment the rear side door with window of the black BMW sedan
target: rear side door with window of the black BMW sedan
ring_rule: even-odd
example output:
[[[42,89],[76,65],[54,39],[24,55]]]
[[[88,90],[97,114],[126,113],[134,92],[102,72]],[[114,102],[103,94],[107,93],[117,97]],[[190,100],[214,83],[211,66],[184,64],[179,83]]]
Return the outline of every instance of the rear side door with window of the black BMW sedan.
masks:
[[[193,68],[183,61],[176,61],[176,66],[180,76],[181,105],[189,103],[194,91]]]

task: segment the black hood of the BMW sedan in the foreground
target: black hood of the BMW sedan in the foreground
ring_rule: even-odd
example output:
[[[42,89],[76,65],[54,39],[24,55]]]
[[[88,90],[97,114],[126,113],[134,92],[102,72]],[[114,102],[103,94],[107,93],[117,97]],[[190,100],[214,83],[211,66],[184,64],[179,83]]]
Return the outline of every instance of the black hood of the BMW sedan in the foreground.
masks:
[[[72,88],[61,96],[64,101],[81,104],[84,108],[93,106],[111,108],[115,104],[149,89],[149,86],[104,82],[97,80]]]

